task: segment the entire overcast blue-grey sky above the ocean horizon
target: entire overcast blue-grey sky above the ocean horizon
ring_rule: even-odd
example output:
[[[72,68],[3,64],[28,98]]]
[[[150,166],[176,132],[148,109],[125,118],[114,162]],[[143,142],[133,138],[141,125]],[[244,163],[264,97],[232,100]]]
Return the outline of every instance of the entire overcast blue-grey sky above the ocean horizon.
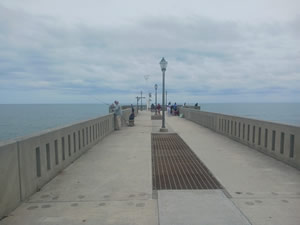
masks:
[[[1,0],[0,103],[300,102],[299,0]],[[149,79],[144,79],[149,75]]]

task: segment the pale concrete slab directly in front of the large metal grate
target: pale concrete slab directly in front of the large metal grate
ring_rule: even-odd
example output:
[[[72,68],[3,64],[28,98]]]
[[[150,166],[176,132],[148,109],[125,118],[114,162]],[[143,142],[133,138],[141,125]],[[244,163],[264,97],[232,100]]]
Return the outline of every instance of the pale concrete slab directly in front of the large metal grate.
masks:
[[[158,191],[160,225],[250,225],[221,190]]]

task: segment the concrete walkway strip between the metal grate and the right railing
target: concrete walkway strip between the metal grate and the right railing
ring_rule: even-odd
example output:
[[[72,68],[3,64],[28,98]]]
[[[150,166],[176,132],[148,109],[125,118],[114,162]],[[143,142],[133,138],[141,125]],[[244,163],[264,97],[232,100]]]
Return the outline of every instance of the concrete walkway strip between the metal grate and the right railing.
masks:
[[[254,225],[300,224],[300,171],[179,117],[167,127],[183,138]]]

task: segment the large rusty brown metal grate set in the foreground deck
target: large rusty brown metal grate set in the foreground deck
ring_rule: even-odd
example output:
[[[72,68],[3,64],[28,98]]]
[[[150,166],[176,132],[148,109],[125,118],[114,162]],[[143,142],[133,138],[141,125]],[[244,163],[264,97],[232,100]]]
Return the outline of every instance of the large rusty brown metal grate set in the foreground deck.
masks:
[[[152,134],[153,190],[222,189],[220,183],[177,134]]]

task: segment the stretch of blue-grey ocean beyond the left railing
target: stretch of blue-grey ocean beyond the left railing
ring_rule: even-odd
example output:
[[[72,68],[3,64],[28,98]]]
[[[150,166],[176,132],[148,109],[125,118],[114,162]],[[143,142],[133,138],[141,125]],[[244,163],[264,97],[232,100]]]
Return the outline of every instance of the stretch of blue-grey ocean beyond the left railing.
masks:
[[[0,141],[107,114],[104,104],[0,104]]]

